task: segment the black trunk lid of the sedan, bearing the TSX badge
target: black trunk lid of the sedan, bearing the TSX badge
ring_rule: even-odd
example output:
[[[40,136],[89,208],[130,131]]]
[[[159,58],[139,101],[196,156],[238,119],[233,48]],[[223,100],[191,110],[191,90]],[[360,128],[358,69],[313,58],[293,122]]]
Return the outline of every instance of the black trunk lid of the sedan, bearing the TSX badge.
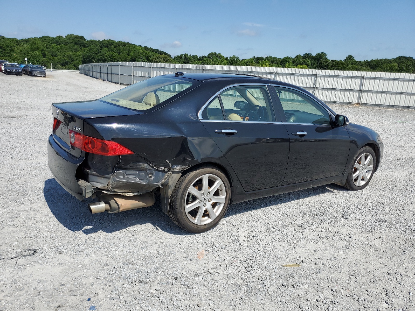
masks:
[[[81,157],[82,151],[79,148],[71,146],[70,130],[94,137],[93,134],[91,135],[91,133],[85,132],[85,119],[134,114],[143,114],[143,112],[126,109],[120,106],[101,102],[99,100],[52,104],[52,116],[59,120],[56,126],[54,126],[53,138],[54,141],[56,141],[56,143],[58,143],[59,146],[64,148],[68,153],[71,153],[79,158]],[[86,126],[88,127],[89,124]]]

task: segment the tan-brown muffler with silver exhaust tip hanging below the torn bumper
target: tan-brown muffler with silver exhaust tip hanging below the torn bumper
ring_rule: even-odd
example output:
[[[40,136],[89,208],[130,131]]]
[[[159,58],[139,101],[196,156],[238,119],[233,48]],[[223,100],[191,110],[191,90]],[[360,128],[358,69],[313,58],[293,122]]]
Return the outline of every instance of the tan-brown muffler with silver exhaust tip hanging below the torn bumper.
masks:
[[[128,211],[130,209],[139,209],[154,204],[154,196],[151,193],[139,195],[125,196],[121,194],[101,194],[101,202],[88,204],[91,214],[102,213],[118,213],[119,211]]]

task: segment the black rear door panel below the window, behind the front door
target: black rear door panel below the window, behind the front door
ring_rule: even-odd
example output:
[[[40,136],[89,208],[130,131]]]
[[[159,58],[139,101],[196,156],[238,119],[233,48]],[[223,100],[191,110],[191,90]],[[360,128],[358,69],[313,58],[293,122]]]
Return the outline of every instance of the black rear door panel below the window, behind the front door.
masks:
[[[281,186],[286,173],[289,138],[281,123],[203,121],[203,125],[232,165],[244,191]],[[223,129],[236,134],[219,134]]]

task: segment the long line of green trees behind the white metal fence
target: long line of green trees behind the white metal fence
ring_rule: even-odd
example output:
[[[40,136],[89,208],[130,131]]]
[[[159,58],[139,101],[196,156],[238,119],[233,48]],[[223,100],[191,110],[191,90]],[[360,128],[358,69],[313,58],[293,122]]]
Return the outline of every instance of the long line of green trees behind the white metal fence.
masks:
[[[28,39],[0,36],[0,59],[25,63],[24,58],[30,63],[47,68],[53,63],[55,69],[78,69],[79,65],[85,63],[132,61],[415,73],[415,59],[408,56],[356,61],[352,55],[344,60],[334,60],[329,59],[326,53],[320,52],[315,55],[298,54],[295,57],[252,56],[240,59],[235,55],[225,57],[220,53],[212,52],[207,56],[180,54],[171,57],[164,51],[147,46],[109,39],[86,40],[83,36],[75,34]]]

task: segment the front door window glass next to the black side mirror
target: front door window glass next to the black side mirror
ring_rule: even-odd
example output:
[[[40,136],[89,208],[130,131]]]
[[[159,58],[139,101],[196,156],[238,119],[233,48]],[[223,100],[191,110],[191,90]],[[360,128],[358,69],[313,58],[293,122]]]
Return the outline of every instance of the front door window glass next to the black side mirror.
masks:
[[[275,87],[287,122],[329,124],[330,114],[307,95],[285,87]]]

